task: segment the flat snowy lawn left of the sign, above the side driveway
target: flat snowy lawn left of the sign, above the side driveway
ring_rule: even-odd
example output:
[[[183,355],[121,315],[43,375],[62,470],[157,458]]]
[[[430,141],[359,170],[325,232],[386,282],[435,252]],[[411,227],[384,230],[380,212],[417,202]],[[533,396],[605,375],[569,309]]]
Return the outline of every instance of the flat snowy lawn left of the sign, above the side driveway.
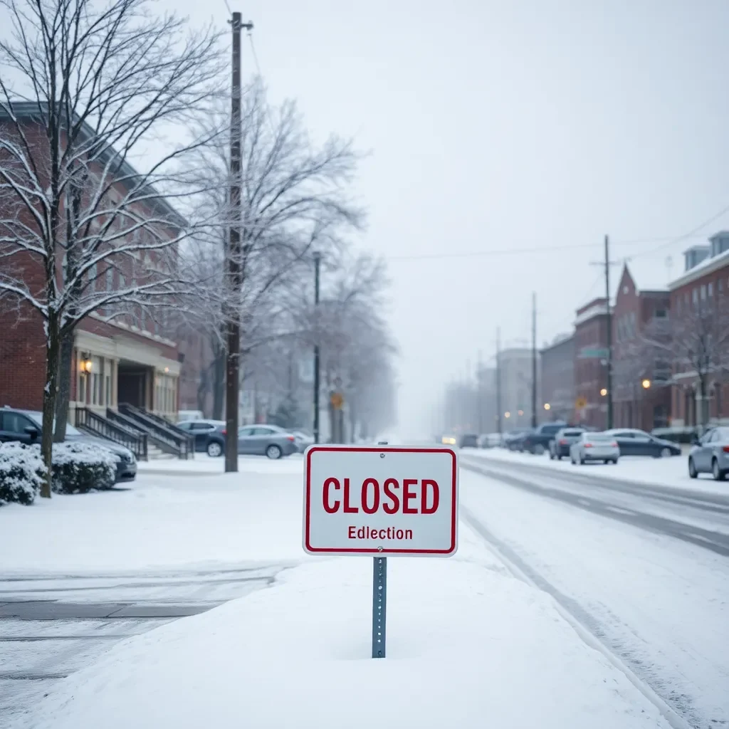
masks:
[[[184,472],[197,461],[164,462]],[[126,491],[2,507],[0,534],[13,550],[0,577],[300,560],[302,463],[241,459],[238,473],[194,477],[155,475],[144,464]]]

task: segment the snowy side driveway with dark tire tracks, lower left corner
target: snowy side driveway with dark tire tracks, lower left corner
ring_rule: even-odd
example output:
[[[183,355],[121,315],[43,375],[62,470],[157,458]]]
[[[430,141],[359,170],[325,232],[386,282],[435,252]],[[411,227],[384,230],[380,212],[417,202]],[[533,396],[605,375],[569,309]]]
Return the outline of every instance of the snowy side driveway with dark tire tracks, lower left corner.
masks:
[[[0,729],[115,642],[264,587],[279,569],[0,580]]]

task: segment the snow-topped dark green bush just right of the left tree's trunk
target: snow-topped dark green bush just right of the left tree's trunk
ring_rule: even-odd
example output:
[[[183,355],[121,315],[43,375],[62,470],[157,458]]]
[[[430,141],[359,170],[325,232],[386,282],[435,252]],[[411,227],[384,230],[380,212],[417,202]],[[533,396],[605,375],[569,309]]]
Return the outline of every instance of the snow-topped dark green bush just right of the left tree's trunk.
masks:
[[[56,494],[85,494],[93,488],[112,488],[118,457],[93,443],[54,443],[52,488]]]

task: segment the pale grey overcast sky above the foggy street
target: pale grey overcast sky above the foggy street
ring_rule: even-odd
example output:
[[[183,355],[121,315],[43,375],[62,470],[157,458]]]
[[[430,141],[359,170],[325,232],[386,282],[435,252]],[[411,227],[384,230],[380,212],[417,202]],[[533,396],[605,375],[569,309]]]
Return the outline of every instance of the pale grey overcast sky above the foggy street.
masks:
[[[228,1],[271,100],[371,152],[359,244],[389,259],[404,437],[496,327],[528,340],[532,291],[540,346],[572,329],[605,233],[653,282],[729,206],[727,0]],[[225,26],[225,0],[162,5]]]

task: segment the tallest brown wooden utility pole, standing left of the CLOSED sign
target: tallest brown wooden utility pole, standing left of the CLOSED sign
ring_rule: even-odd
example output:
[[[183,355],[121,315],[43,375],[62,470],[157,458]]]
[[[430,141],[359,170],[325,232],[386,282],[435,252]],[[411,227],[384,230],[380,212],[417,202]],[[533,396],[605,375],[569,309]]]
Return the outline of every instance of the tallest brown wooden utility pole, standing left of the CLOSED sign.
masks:
[[[225,354],[225,472],[238,471],[238,399],[241,370],[241,306],[243,285],[241,265],[241,28],[249,31],[253,23],[241,23],[241,13],[233,20],[233,82],[230,94],[230,241],[225,257],[230,301],[226,306]]]

